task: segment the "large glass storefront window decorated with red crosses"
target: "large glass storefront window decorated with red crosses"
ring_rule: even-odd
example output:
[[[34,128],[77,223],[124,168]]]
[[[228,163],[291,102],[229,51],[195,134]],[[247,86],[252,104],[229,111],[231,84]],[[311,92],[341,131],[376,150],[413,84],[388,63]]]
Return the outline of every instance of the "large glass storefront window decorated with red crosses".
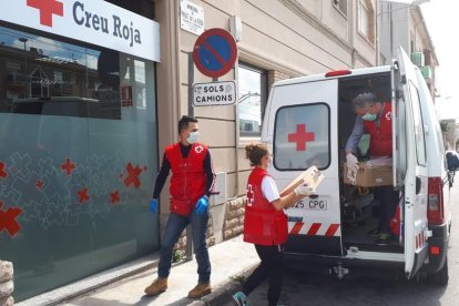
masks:
[[[21,300],[159,247],[154,63],[0,27],[0,232]]]

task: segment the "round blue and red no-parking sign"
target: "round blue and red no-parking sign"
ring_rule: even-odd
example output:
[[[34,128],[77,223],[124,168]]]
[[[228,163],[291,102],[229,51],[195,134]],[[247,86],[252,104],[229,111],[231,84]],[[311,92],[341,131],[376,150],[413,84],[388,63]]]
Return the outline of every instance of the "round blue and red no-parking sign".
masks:
[[[237,47],[231,33],[214,28],[202,33],[193,49],[194,63],[204,75],[218,78],[233,69]]]

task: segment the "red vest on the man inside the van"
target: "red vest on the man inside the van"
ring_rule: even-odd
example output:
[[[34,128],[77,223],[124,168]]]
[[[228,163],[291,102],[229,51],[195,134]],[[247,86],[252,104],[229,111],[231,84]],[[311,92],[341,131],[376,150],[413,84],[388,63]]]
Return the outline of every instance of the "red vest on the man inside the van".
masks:
[[[379,126],[376,125],[376,121],[364,121],[364,128],[370,134],[370,155],[392,156],[392,112],[390,102],[384,103]]]

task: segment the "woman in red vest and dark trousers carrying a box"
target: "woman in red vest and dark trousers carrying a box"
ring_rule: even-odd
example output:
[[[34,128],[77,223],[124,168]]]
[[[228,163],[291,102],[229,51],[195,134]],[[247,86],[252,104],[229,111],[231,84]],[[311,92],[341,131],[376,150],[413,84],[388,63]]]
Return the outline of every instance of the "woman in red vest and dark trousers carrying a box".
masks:
[[[283,244],[287,239],[287,216],[284,208],[290,207],[314,188],[299,185],[293,192],[280,196],[276,183],[267,173],[269,152],[265,145],[245,146],[246,157],[254,166],[247,181],[247,201],[244,218],[244,241],[255,244],[262,263],[252,273],[243,290],[233,295],[236,305],[248,305],[248,294],[266,277],[269,279],[268,303],[276,305],[283,284]]]

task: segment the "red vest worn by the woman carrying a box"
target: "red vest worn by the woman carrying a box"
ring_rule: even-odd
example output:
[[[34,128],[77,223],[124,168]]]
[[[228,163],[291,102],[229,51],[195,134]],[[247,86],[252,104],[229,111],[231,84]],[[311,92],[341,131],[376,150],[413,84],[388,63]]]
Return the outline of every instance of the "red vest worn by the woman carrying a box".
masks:
[[[276,211],[262,192],[263,177],[269,174],[255,167],[247,181],[244,241],[259,245],[284,244],[288,235],[287,215]]]

